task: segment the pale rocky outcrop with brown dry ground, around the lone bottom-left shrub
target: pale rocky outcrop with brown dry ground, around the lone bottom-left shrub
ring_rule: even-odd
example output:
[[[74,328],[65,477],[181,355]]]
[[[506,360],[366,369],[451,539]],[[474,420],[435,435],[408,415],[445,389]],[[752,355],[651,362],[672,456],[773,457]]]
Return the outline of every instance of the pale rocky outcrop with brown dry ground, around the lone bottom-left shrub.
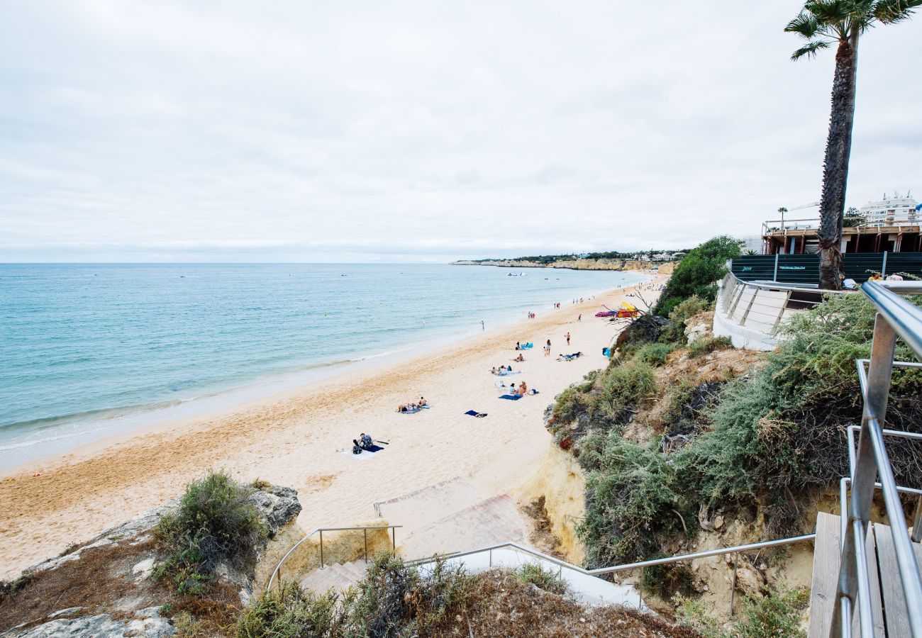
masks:
[[[245,568],[219,563],[208,593],[195,603],[232,610],[258,589],[257,574],[271,572],[266,564],[290,538],[299,536],[298,492],[266,486],[249,500],[267,529]],[[166,610],[190,604],[169,584],[150,578],[160,560],[155,530],[176,502],[108,529],[96,538],[30,567],[0,589],[0,632],[7,638],[56,636],[167,636],[176,629]]]

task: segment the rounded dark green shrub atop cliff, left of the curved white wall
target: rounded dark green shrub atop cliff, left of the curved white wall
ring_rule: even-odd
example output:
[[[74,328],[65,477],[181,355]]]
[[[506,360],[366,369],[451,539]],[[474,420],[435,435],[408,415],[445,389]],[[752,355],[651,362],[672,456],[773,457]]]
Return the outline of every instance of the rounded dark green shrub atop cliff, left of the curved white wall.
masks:
[[[667,316],[681,301],[695,295],[714,301],[716,282],[727,274],[727,259],[739,257],[740,245],[739,240],[722,235],[689,251],[672,271],[653,312]]]

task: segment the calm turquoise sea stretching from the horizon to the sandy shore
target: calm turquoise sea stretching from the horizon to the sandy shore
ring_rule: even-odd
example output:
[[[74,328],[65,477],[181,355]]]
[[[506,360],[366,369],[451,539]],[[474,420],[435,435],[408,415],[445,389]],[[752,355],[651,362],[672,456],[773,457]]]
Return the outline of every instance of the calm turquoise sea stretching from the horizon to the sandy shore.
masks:
[[[418,265],[0,265],[0,467],[237,389],[553,312],[636,273]],[[300,376],[299,376],[300,375]],[[157,410],[160,410],[158,412]]]

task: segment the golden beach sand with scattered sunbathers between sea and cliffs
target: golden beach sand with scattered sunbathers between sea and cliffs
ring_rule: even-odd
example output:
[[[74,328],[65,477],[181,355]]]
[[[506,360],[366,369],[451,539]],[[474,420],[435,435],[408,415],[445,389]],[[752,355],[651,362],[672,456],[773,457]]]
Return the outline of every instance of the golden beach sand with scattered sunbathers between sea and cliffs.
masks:
[[[644,299],[656,293],[641,285]],[[182,493],[208,468],[298,490],[301,527],[351,526],[374,518],[374,502],[461,477],[485,496],[514,493],[535,478],[548,455],[545,408],[568,385],[607,362],[601,349],[617,333],[594,315],[632,290],[597,295],[535,319],[503,326],[411,360],[347,372],[207,418],[160,424],[95,443],[71,454],[7,472],[0,483],[0,578]],[[630,299],[628,301],[636,301]],[[577,315],[583,321],[577,322]],[[572,335],[566,345],[564,334]],[[542,346],[552,343],[552,356]],[[516,341],[531,341],[514,363]],[[558,354],[582,350],[563,362]],[[490,369],[511,363],[522,374],[501,379]],[[496,381],[525,381],[538,396],[499,398]],[[398,414],[400,403],[425,396],[431,408]],[[474,409],[485,419],[467,416]],[[359,460],[351,440],[366,431],[385,449]],[[34,477],[33,474],[41,473]],[[400,524],[400,521],[390,521]],[[404,530],[401,530],[404,533]],[[452,548],[463,549],[463,548]]]

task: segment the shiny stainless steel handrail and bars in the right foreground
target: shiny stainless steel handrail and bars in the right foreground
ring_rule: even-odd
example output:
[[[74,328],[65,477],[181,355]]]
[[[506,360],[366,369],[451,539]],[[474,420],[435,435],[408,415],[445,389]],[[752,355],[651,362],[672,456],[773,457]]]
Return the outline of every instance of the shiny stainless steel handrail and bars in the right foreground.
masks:
[[[900,501],[901,491],[917,493],[918,490],[901,488],[896,484],[890,458],[884,446],[884,436],[922,436],[885,430],[883,427],[893,367],[918,367],[915,362],[893,360],[896,337],[901,337],[917,357],[922,357],[922,309],[896,293],[918,292],[922,290],[922,286],[919,286],[918,282],[888,282],[887,285],[881,285],[869,281],[861,286],[861,290],[877,308],[877,317],[874,321],[870,360],[857,361],[864,412],[861,426],[857,429],[857,445],[854,430],[848,430],[851,476],[847,481],[843,479],[840,483],[843,540],[837,600],[833,605],[830,635],[851,635],[852,614],[856,607],[861,635],[874,635],[865,535],[870,523],[871,500],[874,490],[879,487],[890,519],[893,549],[905,598],[907,624],[914,638],[922,638],[922,576],[919,574],[912,539],[905,522],[903,503]],[[846,500],[845,490],[849,484],[851,496]],[[919,510],[920,506],[917,506],[916,514]],[[918,523],[916,519],[916,526]]]

